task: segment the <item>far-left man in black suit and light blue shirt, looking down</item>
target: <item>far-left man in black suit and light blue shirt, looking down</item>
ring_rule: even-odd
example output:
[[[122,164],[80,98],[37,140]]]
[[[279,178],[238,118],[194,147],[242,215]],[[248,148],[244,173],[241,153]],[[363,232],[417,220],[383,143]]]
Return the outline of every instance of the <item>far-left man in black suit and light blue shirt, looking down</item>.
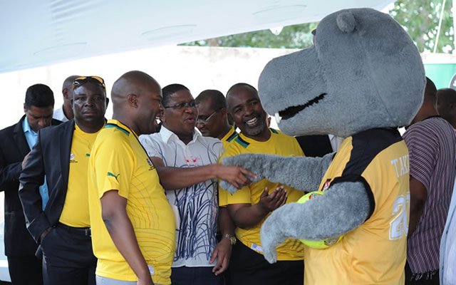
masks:
[[[24,103],[26,114],[19,123],[0,130],[0,190],[5,192],[5,255],[14,285],[43,284],[41,260],[35,257],[38,246],[27,232],[18,190],[21,162],[35,144],[38,130],[60,123],[52,119],[53,106],[51,88],[43,84],[30,86]]]

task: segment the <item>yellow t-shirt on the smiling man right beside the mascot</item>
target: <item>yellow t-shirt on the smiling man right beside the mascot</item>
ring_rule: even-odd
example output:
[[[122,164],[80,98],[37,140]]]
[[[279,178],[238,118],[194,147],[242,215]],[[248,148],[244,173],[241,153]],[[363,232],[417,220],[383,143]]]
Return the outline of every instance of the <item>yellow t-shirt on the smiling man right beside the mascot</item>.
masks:
[[[274,129],[270,130],[271,138],[269,138],[266,142],[252,140],[240,133],[237,138],[229,144],[227,150],[225,150],[222,155],[222,158],[239,155],[241,153],[265,153],[283,156],[304,155],[295,138],[284,135]],[[279,186],[279,183],[263,179],[238,190],[234,194],[229,194],[229,192],[220,188],[219,204],[220,206],[242,203],[251,203],[252,205],[257,204],[261,193],[264,191],[264,187],[268,187],[269,191],[272,192]],[[302,195],[304,195],[304,192],[294,188],[286,187],[286,189],[288,190],[288,199],[286,200],[287,203],[296,202]],[[261,248],[259,230],[261,229],[261,224],[263,224],[267,217],[269,217],[269,214],[256,226],[250,229],[241,229],[239,227],[236,229],[237,239],[250,249],[253,249],[255,252],[259,252],[261,254],[263,254],[263,249]],[[277,247],[277,260],[301,260],[304,255],[303,250],[304,245],[299,242],[299,240],[287,239],[286,242]]]

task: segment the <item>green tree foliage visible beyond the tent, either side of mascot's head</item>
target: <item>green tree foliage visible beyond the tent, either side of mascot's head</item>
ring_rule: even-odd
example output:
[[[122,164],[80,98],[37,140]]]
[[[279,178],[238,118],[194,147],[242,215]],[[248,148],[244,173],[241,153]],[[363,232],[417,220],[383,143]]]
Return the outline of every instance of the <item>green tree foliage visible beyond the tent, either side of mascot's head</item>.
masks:
[[[437,37],[442,0],[398,0],[389,13],[415,41],[420,52],[433,51]],[[453,46],[452,1],[445,4],[437,52],[451,53]],[[286,26],[278,36],[269,30],[239,33],[219,38],[183,43],[184,46],[234,46],[252,48],[307,48],[312,44],[311,31],[318,22]]]

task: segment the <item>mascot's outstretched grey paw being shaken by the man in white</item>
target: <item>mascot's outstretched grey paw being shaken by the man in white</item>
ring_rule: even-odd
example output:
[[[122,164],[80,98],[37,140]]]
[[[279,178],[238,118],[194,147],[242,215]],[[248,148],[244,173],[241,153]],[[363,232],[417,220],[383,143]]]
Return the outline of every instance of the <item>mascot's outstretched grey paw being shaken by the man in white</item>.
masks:
[[[261,161],[264,160],[264,155],[254,155],[249,153],[244,153],[242,155],[234,155],[230,157],[223,157],[222,158],[222,165],[237,165],[243,167],[251,172],[254,172],[257,175],[257,179],[254,177],[247,177],[252,182],[258,182],[263,178],[261,175]],[[259,163],[260,162],[260,163]],[[233,185],[229,184],[228,182],[221,180],[220,187],[224,190],[227,190],[229,193],[233,194],[237,191],[237,188]]]

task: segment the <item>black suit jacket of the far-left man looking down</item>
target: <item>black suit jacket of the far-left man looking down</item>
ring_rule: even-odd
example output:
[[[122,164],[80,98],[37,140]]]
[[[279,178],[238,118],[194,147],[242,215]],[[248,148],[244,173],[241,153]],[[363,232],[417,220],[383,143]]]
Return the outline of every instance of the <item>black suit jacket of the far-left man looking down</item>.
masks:
[[[21,201],[19,199],[19,174],[24,157],[30,152],[22,123],[0,130],[0,191],[5,192],[5,255],[25,256],[34,255],[36,242],[27,232],[26,221]],[[52,120],[52,125],[61,123]]]

